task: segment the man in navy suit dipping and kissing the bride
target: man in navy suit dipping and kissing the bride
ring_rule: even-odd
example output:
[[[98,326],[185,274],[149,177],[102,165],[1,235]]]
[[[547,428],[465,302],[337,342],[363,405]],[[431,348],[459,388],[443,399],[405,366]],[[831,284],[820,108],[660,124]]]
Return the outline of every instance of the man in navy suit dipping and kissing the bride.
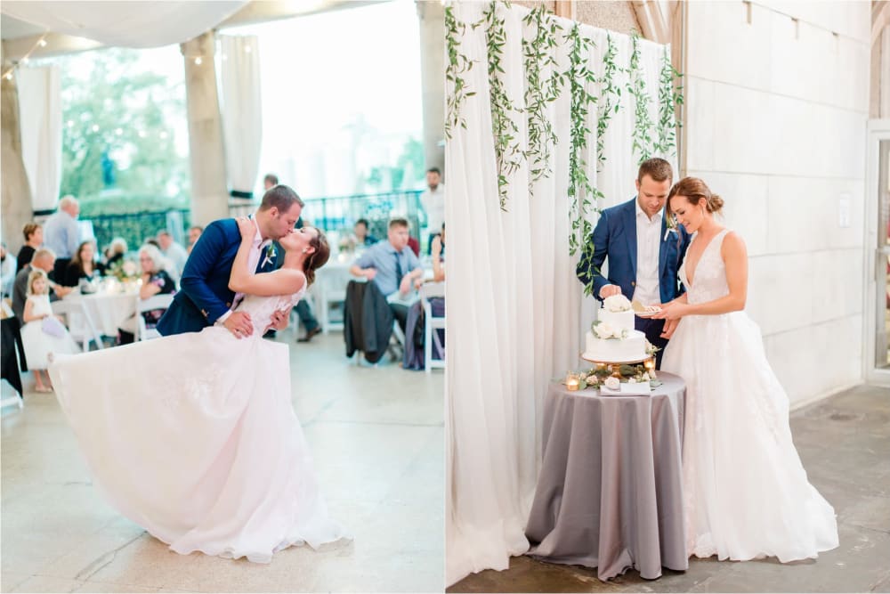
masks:
[[[263,194],[263,202],[253,216],[256,236],[247,257],[250,270],[256,273],[275,269],[279,240],[294,231],[303,211],[303,200],[286,185],[277,185]],[[241,245],[241,233],[234,218],[208,224],[195,247],[191,249],[180,280],[181,289],[173,303],[158,321],[158,332],[164,336],[182,332],[199,332],[207,326],[224,326],[237,338],[250,336],[254,327],[250,315],[233,311],[243,295],[229,289],[231,264]],[[272,316],[276,330],[287,327],[287,311]]]

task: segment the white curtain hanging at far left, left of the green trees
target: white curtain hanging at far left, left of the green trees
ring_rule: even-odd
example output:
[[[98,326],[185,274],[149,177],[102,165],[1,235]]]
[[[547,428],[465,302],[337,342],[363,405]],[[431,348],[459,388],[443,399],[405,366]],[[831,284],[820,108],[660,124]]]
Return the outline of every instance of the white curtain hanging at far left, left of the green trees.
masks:
[[[35,210],[55,208],[61,185],[61,69],[20,68],[21,158]]]

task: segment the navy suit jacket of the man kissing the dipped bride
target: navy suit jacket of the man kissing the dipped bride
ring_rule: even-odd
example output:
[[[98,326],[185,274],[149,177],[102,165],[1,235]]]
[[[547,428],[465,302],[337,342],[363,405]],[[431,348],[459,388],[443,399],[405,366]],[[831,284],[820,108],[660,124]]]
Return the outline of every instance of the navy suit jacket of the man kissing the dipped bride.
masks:
[[[231,264],[241,245],[241,233],[233,218],[208,224],[185,263],[180,290],[158,321],[160,334],[199,332],[212,326],[231,308],[235,292],[229,289]],[[280,248],[278,248],[280,249]],[[274,264],[260,256],[257,272],[269,272]]]

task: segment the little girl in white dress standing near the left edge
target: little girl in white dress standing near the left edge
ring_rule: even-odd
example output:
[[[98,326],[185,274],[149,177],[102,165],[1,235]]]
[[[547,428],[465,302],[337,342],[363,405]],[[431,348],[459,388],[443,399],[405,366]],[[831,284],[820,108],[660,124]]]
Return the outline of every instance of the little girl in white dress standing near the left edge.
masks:
[[[44,271],[35,269],[28,274],[28,298],[22,313],[25,326],[21,329],[21,342],[25,346],[28,369],[34,371],[37,392],[53,391],[46,371],[50,353],[80,353],[80,348],[62,324],[61,318],[53,315],[49,290],[49,279]],[[41,372],[46,373],[45,385]]]

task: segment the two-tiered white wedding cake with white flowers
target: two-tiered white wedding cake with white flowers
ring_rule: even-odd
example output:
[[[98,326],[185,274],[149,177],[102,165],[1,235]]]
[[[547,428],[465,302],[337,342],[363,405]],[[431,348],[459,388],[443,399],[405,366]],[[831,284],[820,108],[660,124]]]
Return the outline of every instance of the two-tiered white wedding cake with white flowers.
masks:
[[[634,310],[623,295],[603,300],[596,321],[587,332],[581,357],[592,362],[624,363],[646,359],[646,335],[634,330]]]

